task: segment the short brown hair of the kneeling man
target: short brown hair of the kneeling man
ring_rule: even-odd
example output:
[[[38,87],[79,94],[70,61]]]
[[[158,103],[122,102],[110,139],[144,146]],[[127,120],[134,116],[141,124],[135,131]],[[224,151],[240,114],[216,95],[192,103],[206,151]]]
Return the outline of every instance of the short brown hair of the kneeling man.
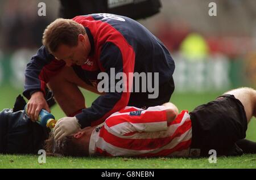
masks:
[[[77,46],[78,36],[85,34],[85,28],[72,19],[56,19],[43,33],[43,45],[50,53],[56,52],[60,44]]]

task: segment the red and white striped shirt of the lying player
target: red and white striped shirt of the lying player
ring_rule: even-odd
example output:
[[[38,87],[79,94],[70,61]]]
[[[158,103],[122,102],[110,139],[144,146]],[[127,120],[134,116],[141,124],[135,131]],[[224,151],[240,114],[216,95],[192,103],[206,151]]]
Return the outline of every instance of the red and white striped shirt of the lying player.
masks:
[[[187,157],[191,138],[191,120],[187,111],[183,110],[167,124],[164,106],[147,110],[127,106],[93,130],[89,154]]]

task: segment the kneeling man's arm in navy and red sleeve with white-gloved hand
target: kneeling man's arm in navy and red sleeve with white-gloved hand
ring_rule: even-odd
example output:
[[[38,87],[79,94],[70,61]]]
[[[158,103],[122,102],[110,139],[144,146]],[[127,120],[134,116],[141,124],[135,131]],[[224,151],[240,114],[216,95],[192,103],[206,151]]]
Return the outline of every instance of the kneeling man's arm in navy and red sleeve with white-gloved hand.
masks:
[[[130,89],[133,78],[129,79],[129,72],[134,72],[135,53],[130,45],[119,46],[113,42],[106,42],[101,49],[99,66],[102,71],[108,74],[108,90],[105,95],[98,97],[90,108],[82,109],[82,113],[75,117],[65,117],[56,124],[53,134],[56,140],[62,139],[88,126],[96,126],[104,122],[109,115],[118,112],[129,102]],[[115,73],[113,73],[113,69]],[[123,80],[125,91],[117,92],[115,89],[119,79],[115,80],[118,72],[125,74],[127,78]],[[114,78],[114,79],[112,79]],[[106,79],[103,79],[106,82]],[[111,89],[114,92],[111,92]],[[76,121],[77,120],[77,121]]]

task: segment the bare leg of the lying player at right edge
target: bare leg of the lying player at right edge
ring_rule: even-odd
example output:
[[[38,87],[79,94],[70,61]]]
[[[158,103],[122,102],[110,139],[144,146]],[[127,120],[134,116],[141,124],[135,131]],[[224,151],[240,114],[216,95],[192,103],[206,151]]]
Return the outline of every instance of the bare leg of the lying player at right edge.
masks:
[[[247,122],[251,117],[256,116],[256,91],[252,88],[238,88],[226,92],[225,94],[234,95],[240,100],[245,108]]]

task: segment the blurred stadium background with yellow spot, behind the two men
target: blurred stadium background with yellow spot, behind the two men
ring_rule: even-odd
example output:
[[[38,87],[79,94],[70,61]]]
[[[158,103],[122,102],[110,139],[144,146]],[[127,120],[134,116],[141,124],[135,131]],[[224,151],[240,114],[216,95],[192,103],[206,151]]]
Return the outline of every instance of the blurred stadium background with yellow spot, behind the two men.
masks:
[[[97,3],[100,1],[108,3],[106,0]],[[45,3],[46,16],[38,15],[39,2]],[[217,16],[209,15],[210,2],[216,3]],[[163,41],[175,60],[176,89],[171,101],[179,109],[192,110],[231,88],[256,87],[256,1],[161,0],[160,3],[158,13],[138,22]],[[47,24],[75,13],[63,14],[67,7],[83,13],[78,11],[81,6],[68,5],[68,1],[0,0],[1,109],[12,108],[15,97],[22,93],[24,69],[42,45]],[[83,93],[90,106],[97,96]],[[58,106],[53,113],[57,118],[64,115]]]

